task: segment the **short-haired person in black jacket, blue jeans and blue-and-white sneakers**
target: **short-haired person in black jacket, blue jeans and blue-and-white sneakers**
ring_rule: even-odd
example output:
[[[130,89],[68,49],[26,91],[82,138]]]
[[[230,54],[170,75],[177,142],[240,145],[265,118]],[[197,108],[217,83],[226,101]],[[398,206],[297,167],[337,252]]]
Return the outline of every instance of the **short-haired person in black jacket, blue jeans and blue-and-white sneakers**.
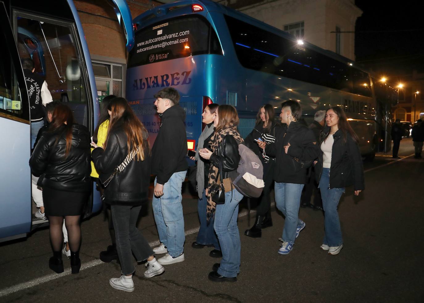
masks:
[[[277,134],[276,144],[267,145],[265,152],[276,156],[274,192],[277,208],[285,216],[279,254],[287,255],[293,249],[304,221],[298,218],[302,189],[307,182],[307,167],[318,157],[319,149],[312,130],[298,121],[302,110],[298,102],[282,104],[281,122],[287,127]]]

